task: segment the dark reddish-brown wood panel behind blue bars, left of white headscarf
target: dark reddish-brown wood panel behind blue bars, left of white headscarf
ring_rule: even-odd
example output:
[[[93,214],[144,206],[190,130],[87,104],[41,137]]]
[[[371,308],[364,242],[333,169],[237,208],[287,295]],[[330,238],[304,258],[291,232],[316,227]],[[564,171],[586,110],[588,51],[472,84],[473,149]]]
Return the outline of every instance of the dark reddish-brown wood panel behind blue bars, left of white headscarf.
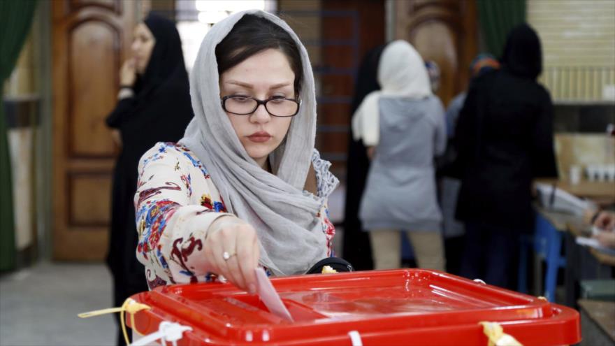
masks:
[[[317,146],[345,178],[354,76],[365,53],[385,41],[384,0],[322,1],[321,101]]]

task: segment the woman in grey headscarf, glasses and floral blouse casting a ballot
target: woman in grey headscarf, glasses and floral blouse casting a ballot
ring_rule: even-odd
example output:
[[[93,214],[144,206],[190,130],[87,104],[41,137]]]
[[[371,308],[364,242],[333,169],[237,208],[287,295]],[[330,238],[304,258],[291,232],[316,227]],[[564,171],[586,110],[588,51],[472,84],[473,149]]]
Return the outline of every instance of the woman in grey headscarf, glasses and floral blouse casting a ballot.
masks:
[[[191,97],[184,138],[139,164],[137,256],[150,288],[222,275],[254,293],[257,266],[291,275],[331,256],[338,180],[314,149],[314,78],[294,31],[260,10],[218,22]]]

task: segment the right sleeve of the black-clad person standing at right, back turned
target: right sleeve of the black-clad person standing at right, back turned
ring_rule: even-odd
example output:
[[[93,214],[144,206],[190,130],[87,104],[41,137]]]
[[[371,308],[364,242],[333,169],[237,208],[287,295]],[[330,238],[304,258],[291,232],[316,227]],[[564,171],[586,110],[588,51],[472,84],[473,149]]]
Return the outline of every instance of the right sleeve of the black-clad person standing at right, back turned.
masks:
[[[533,133],[532,166],[535,178],[557,178],[558,169],[555,159],[553,138],[553,103],[546,90],[540,101]]]

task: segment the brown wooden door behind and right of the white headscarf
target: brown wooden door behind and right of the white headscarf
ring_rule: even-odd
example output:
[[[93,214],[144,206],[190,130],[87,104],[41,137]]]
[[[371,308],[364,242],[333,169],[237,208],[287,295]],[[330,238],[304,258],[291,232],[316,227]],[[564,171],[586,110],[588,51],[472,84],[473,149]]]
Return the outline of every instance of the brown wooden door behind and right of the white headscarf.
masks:
[[[446,106],[463,91],[477,54],[475,0],[393,1],[395,38],[405,39],[425,60],[440,66],[437,96]]]

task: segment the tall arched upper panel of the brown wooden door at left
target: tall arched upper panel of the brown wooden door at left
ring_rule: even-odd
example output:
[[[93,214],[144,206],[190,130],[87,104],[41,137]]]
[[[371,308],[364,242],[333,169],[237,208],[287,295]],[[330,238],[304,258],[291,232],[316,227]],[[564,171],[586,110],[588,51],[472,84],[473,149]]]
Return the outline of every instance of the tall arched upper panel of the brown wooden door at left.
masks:
[[[68,30],[68,134],[71,157],[113,157],[105,117],[117,102],[121,28],[88,19]]]

